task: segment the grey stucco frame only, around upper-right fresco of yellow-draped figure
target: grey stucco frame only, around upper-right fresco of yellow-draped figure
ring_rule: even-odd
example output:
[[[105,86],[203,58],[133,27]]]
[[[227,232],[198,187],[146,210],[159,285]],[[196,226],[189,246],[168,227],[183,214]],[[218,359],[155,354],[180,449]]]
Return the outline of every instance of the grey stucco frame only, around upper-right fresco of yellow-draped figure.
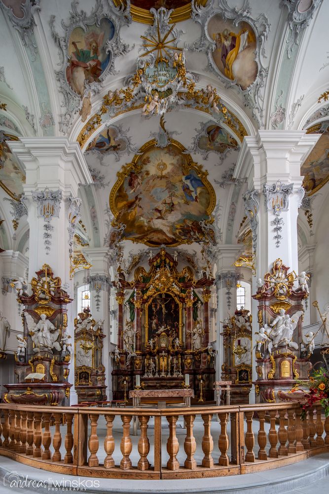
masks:
[[[217,3],[217,6],[215,5]],[[235,26],[240,22],[247,22],[251,25],[256,34],[255,61],[257,64],[256,80],[243,90],[235,81],[225,77],[215,64],[212,53],[216,48],[216,42],[208,34],[209,21],[216,15],[226,21],[233,21]],[[263,92],[268,70],[264,67],[262,60],[266,58],[265,42],[267,41],[271,25],[265,14],[260,14],[256,19],[251,16],[251,6],[248,0],[244,0],[240,9],[230,7],[227,0],[210,0],[206,7],[200,7],[192,3],[192,19],[201,25],[201,36],[198,40],[186,48],[193,51],[206,52],[210,70],[215,73],[225,88],[235,88],[244,97],[245,105],[253,113],[253,117],[261,126],[263,123]]]

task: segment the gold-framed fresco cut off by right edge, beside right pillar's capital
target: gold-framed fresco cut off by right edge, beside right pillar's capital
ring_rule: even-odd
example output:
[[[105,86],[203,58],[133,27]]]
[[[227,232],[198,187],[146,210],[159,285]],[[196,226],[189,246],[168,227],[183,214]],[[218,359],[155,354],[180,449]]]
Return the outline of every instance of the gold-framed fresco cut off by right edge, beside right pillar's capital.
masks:
[[[313,125],[307,131],[319,132],[322,132],[322,136],[301,166],[301,174],[304,175],[303,187],[309,196],[329,181],[329,120]]]

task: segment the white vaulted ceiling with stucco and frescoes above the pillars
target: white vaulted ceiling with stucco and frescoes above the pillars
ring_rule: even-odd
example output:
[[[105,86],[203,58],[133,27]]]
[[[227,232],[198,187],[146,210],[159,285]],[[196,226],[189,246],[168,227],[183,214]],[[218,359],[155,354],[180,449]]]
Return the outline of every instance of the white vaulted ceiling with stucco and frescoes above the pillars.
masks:
[[[94,184],[80,186],[85,229],[79,227],[80,235],[91,247],[103,247],[110,241],[113,211],[109,201],[117,173],[134,157],[138,160],[140,148],[151,139],[159,149],[163,139],[178,141],[191,163],[202,166],[216,194],[216,242],[234,244],[248,229],[242,201],[247,185],[232,180],[244,135],[255,135],[259,128],[327,132],[329,105],[325,100],[318,102],[328,90],[329,79],[326,1],[208,0],[193,6],[187,1],[132,1],[131,9],[129,2],[121,0],[72,4],[26,0],[22,7],[21,3],[0,0],[0,103],[5,105],[0,110],[3,248],[28,253],[26,216],[18,226],[12,222],[12,201],[22,192],[24,167],[6,147],[6,139],[66,135],[80,143],[94,180]],[[165,13],[154,10],[152,15],[141,9],[142,3],[156,9],[176,7],[169,25]],[[168,32],[168,26],[172,28],[167,41],[174,41],[166,56],[182,48],[195,90],[206,94],[207,85],[216,88],[229,118],[221,107],[217,113],[209,104],[186,101],[183,87],[183,96],[173,99],[161,120],[160,115],[142,115],[143,90],[132,104],[116,108],[113,100],[107,112],[101,113],[109,91],[111,99],[115,90],[131,84],[129,78],[147,49],[142,37],[153,36],[154,40],[154,16],[159,19],[160,35]],[[98,46],[97,64],[87,76],[83,63],[88,66],[93,59],[93,42]],[[95,120],[95,115],[100,118]],[[319,123],[322,126],[316,126]],[[314,184],[318,180],[317,185],[325,186],[329,170],[322,167],[321,154],[315,160],[316,169],[322,171]],[[305,168],[306,172],[313,172],[315,166],[311,168]],[[310,180],[308,192],[315,189]],[[319,196],[315,191],[304,205],[313,217],[327,188]],[[300,216],[300,235],[307,242],[312,226],[307,215]],[[141,248],[146,246],[127,241],[125,256]],[[182,248],[201,250],[198,242]]]

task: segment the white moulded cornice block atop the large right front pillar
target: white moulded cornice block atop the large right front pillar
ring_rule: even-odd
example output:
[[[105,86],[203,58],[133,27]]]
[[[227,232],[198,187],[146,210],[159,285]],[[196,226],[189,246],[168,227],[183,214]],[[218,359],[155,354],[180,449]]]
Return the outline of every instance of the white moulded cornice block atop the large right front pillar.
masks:
[[[259,130],[245,136],[233,178],[248,179],[248,185],[262,190],[265,182],[301,185],[300,166],[321,134],[305,130]]]

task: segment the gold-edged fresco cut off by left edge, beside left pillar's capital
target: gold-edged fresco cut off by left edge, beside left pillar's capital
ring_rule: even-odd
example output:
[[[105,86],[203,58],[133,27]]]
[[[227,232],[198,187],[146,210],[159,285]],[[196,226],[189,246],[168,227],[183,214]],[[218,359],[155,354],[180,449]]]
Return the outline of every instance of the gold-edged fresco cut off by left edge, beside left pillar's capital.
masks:
[[[25,173],[5,141],[18,141],[15,135],[0,131],[0,187],[13,199],[23,193]]]

